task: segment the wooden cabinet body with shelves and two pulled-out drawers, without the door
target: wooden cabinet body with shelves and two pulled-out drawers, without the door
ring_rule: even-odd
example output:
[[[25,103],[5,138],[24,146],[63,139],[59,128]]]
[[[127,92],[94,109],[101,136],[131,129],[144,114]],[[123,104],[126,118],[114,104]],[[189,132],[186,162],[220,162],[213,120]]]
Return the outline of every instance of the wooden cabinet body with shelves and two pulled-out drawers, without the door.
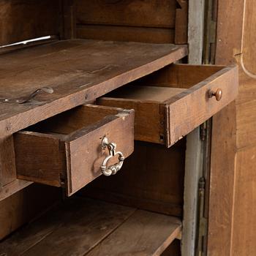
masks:
[[[0,200],[32,182],[69,198],[0,255],[181,255],[186,136],[238,94],[236,65],[188,64],[187,17],[188,1],[1,1]]]

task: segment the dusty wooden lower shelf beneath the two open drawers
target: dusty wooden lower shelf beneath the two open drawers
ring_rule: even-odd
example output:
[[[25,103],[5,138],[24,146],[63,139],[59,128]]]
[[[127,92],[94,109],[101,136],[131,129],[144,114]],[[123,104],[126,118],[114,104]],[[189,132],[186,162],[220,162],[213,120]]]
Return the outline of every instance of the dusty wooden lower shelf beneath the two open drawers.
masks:
[[[181,237],[176,217],[72,198],[0,243],[0,255],[161,255]]]

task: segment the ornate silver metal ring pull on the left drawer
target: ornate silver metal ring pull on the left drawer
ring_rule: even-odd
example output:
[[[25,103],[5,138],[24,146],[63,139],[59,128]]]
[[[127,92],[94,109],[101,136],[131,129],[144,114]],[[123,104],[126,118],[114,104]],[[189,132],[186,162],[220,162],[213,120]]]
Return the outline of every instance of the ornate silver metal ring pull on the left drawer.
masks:
[[[124,155],[120,151],[116,152],[116,143],[108,143],[108,138],[104,137],[102,139],[102,148],[108,148],[109,156],[106,157],[102,163],[102,166],[100,167],[100,170],[102,171],[102,174],[105,176],[111,176],[118,172],[118,170],[121,169],[123,163],[124,163]],[[119,162],[115,165],[107,166],[108,160],[112,157],[115,157],[118,155]]]

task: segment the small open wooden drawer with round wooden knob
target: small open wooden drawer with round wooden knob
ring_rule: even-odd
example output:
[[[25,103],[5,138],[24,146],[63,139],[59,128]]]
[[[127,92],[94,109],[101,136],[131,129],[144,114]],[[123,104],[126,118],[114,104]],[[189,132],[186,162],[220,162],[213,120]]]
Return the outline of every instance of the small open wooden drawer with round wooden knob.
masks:
[[[97,104],[135,110],[135,140],[172,146],[238,94],[236,66],[170,64]]]

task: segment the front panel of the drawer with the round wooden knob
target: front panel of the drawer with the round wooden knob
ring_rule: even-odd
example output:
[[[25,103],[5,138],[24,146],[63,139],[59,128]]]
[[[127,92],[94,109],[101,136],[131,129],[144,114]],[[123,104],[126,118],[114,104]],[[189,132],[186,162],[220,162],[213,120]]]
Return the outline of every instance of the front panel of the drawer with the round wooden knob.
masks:
[[[222,97],[211,94],[221,90]],[[214,116],[238,94],[237,67],[225,67],[166,103],[167,146]]]

